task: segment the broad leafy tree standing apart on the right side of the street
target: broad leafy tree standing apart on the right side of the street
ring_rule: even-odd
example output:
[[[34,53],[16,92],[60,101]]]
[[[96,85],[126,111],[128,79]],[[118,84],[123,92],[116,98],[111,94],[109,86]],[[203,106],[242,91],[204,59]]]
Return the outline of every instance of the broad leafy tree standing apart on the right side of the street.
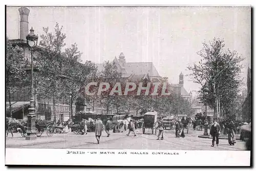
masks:
[[[225,50],[224,40],[214,38],[198,52],[201,60],[188,66],[194,82],[201,84],[200,100],[215,109],[215,113],[227,112],[239,96],[241,62],[236,52]]]

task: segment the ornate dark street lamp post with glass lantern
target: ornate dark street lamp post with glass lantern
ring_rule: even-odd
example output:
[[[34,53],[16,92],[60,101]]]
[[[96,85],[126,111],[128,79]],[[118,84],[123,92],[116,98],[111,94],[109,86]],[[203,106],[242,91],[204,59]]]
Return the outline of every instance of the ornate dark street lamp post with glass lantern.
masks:
[[[27,44],[31,53],[31,100],[28,114],[28,130],[26,140],[32,140],[36,138],[36,129],[35,129],[35,108],[34,108],[34,84],[33,84],[33,53],[37,45],[38,36],[34,34],[33,28],[31,28],[30,33],[26,36]]]

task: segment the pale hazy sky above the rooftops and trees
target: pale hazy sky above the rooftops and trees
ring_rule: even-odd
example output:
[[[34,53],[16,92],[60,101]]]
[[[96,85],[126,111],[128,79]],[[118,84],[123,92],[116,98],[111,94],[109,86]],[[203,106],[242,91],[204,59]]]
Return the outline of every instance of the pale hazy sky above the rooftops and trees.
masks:
[[[19,37],[19,7],[7,7],[7,36]],[[251,66],[250,7],[28,7],[29,29],[41,35],[42,27],[63,26],[66,47],[77,43],[83,61],[112,61],[122,52],[126,62],[153,62],[159,75],[184,88],[200,89],[186,76],[197,63],[203,42],[224,39],[230,50],[245,58],[241,77]],[[246,83],[246,82],[244,82]]]

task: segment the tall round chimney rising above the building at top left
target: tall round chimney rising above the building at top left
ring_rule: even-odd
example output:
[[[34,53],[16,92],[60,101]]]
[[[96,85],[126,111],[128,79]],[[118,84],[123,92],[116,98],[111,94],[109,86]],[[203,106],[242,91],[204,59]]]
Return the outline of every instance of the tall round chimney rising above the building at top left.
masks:
[[[29,9],[21,7],[18,12],[20,15],[19,38],[26,40],[26,36],[29,34]]]

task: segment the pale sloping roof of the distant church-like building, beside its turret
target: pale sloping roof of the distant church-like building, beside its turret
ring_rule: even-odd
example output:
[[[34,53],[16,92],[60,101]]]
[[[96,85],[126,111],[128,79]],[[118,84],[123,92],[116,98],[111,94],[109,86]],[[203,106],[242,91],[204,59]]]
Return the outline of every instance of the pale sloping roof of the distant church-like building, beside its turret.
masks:
[[[104,69],[103,64],[96,64],[99,71]],[[158,74],[156,67],[153,62],[134,62],[134,63],[125,63],[125,69],[127,74],[135,74],[135,75],[144,75],[147,74],[150,77],[161,77]]]

